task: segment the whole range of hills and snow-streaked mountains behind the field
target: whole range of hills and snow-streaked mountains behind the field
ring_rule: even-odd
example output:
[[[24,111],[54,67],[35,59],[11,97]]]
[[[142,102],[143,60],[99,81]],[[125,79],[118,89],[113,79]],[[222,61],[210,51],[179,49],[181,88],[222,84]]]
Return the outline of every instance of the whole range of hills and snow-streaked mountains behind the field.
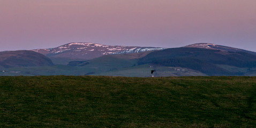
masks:
[[[13,51],[0,52],[0,75],[256,76],[255,52],[210,43],[170,49],[69,43],[29,51],[24,59],[7,52]]]

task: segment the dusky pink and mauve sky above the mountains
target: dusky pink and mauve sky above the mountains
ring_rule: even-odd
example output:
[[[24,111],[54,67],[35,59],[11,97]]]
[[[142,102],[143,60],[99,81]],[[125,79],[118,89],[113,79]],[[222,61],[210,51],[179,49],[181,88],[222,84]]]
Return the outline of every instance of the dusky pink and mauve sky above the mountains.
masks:
[[[255,0],[0,0],[0,51],[71,42],[256,52]]]

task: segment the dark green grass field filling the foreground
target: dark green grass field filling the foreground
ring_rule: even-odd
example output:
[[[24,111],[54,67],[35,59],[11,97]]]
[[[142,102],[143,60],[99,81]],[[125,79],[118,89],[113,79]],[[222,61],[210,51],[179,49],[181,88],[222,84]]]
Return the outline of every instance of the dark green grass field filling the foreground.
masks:
[[[256,77],[0,77],[0,127],[256,127]]]

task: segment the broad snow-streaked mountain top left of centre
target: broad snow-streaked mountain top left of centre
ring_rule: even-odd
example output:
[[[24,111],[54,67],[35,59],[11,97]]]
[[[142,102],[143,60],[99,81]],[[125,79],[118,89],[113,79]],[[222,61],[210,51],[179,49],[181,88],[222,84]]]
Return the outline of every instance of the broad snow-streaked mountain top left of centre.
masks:
[[[139,53],[163,49],[162,47],[111,46],[97,43],[76,42],[52,49],[36,49],[33,51],[45,54],[48,57],[93,59],[106,54]]]

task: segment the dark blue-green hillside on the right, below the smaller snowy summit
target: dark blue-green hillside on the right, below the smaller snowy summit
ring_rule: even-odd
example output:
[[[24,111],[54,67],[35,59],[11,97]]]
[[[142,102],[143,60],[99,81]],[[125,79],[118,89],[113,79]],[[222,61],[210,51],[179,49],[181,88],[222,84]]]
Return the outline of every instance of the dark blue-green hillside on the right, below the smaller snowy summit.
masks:
[[[256,67],[256,55],[245,52],[223,52],[220,50],[180,47],[149,53],[139,60],[139,65],[145,63],[186,67],[208,75],[242,75],[230,73],[216,65],[253,68]]]

